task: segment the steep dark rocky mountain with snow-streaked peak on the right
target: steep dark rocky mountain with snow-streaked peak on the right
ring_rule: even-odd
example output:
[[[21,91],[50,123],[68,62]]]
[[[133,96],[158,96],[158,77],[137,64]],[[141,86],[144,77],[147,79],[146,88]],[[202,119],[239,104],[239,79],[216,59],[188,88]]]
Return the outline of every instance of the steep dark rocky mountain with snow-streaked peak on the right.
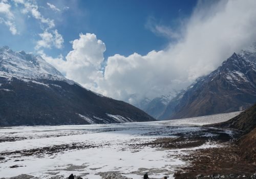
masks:
[[[159,119],[244,110],[256,102],[256,53],[233,53],[217,70],[198,78],[167,105]]]

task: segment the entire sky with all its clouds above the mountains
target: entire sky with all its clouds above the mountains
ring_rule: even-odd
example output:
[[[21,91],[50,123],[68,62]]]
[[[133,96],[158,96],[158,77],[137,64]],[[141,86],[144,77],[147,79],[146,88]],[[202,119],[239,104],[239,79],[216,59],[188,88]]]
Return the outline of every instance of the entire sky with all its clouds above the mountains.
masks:
[[[131,104],[186,88],[256,41],[255,0],[0,0],[0,46]]]

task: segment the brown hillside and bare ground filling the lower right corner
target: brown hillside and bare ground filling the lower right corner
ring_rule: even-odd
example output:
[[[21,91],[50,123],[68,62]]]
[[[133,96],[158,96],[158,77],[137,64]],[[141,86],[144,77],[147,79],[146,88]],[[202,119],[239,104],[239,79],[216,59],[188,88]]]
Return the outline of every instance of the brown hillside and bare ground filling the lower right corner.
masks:
[[[256,104],[226,122],[204,125],[203,128],[243,132],[234,130],[232,140],[222,143],[221,147],[191,152],[183,159],[191,165],[181,167],[175,178],[256,178],[255,124]]]

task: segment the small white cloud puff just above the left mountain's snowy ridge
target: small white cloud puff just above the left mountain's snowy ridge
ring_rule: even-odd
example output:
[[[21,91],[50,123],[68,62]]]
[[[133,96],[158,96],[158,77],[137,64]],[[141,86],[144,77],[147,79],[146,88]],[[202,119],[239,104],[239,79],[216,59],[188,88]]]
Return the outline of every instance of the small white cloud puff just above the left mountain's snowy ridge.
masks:
[[[36,42],[35,49],[37,50],[40,48],[50,49],[52,47],[61,49],[63,46],[64,40],[56,29],[52,32],[49,32],[48,30],[46,30],[43,33],[39,34],[39,36],[41,37],[41,40],[38,40]]]

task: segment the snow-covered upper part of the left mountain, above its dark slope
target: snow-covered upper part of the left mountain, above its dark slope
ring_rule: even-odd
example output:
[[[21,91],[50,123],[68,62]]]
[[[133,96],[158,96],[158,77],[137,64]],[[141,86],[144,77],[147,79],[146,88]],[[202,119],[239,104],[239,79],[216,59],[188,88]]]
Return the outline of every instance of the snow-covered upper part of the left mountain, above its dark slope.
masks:
[[[13,52],[9,47],[0,48],[0,75],[27,79],[51,79],[68,81],[51,64],[40,56]]]

